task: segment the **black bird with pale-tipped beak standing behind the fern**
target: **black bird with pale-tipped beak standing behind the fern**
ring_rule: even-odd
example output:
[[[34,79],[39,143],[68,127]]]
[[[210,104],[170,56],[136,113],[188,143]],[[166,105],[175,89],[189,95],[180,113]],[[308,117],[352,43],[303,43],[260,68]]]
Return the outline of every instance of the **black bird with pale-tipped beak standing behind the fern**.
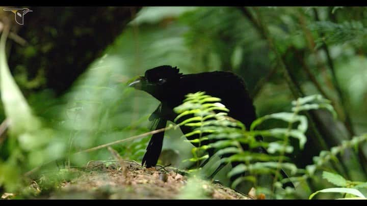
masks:
[[[246,128],[250,128],[256,119],[255,107],[243,79],[231,72],[215,71],[183,75],[179,73],[177,67],[165,65],[147,70],[144,76],[140,76],[128,86],[145,91],[161,102],[149,117],[149,120],[153,121],[152,130],[166,127],[167,121],[173,122],[177,115],[173,112],[173,108],[183,102],[185,95],[199,91],[220,98],[221,103],[229,109],[228,116],[239,120]],[[180,129],[184,134],[191,132],[191,127],[181,126]],[[156,165],[162,151],[163,137],[164,132],[152,135],[142,165],[145,164],[147,168]],[[258,140],[262,138],[258,137]],[[196,143],[193,144],[198,146]],[[201,145],[204,144],[205,142],[201,142]],[[209,149],[207,152],[210,158],[215,151]],[[258,148],[257,152],[266,153],[263,148]],[[201,166],[207,163],[209,158]],[[237,164],[232,163],[232,166]],[[224,164],[218,167],[211,177],[223,166]]]

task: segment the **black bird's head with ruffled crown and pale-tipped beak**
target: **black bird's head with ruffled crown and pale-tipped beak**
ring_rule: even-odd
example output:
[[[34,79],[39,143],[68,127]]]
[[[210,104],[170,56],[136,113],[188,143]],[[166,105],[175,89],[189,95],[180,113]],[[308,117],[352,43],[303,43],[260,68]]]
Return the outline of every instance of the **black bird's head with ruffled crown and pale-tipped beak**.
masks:
[[[168,65],[154,67],[147,70],[144,76],[138,77],[128,86],[145,91],[153,97],[162,100],[181,75],[182,73],[179,73],[177,67]]]

